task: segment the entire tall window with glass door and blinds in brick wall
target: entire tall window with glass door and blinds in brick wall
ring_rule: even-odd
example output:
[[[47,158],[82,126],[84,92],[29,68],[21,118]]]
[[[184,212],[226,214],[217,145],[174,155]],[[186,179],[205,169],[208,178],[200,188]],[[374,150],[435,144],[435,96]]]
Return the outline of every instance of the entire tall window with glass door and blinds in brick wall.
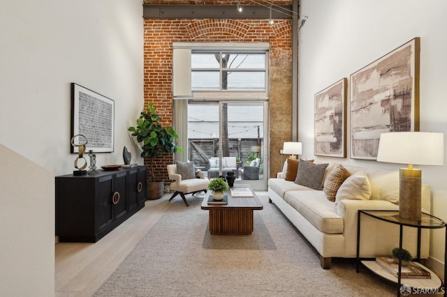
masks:
[[[174,45],[175,128],[187,148],[178,158],[209,178],[232,172],[255,190],[267,188],[268,48]]]

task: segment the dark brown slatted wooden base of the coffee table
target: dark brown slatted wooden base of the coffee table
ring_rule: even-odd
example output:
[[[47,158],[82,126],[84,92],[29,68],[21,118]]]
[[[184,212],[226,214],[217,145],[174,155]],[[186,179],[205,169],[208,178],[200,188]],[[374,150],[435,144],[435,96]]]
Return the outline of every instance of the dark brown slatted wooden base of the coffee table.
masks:
[[[210,209],[210,233],[249,235],[253,231],[253,209]]]

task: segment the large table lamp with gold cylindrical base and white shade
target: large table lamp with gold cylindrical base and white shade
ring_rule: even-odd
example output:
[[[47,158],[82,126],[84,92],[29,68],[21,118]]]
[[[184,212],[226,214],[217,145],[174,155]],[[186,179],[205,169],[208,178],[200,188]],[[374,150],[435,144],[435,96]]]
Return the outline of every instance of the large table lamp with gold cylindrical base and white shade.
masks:
[[[420,221],[422,170],[416,165],[444,165],[444,134],[437,132],[382,133],[377,161],[408,164],[400,169],[399,216]]]

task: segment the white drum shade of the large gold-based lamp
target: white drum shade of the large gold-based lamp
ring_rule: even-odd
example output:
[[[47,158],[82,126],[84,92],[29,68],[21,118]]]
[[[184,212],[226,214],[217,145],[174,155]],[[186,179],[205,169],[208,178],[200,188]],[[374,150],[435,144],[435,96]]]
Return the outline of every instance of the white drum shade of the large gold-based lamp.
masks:
[[[382,133],[377,161],[444,165],[444,134],[437,132]]]

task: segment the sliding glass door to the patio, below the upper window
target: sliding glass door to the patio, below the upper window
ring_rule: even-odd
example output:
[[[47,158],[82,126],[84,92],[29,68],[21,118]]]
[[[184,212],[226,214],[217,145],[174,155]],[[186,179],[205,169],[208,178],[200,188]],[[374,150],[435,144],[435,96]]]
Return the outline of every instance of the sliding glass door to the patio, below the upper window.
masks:
[[[189,102],[188,159],[208,178],[234,174],[235,183],[266,190],[267,102]]]

